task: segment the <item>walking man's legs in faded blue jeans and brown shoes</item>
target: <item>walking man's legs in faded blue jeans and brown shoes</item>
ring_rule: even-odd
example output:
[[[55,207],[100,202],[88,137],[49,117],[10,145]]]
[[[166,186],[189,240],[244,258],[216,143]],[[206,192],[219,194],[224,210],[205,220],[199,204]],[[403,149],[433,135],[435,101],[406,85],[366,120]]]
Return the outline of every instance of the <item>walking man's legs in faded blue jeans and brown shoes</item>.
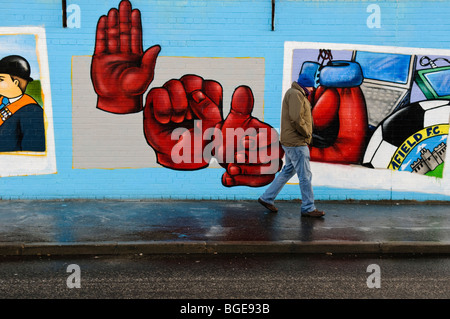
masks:
[[[314,194],[311,185],[312,174],[309,165],[309,148],[308,146],[282,147],[285,152],[286,163],[260,198],[266,203],[273,205],[275,198],[284,185],[292,176],[297,174],[302,195],[301,212],[311,212],[316,207],[314,206]]]

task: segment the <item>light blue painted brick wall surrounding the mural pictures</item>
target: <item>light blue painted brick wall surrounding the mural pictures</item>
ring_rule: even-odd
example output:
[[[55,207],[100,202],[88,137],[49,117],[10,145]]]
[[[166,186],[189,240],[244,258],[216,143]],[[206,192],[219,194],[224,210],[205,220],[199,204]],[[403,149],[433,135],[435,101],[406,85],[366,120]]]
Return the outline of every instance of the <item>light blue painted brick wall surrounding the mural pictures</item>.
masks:
[[[81,9],[81,28],[62,27],[59,0],[0,0],[1,27],[41,26],[47,36],[57,173],[0,178],[2,199],[175,198],[254,199],[263,188],[225,188],[223,169],[73,169],[72,57],[93,54],[98,18],[118,0],[68,0]],[[450,1],[132,0],[142,15],[144,49],[161,56],[259,57],[265,61],[264,120],[278,127],[285,41],[450,49]],[[368,5],[381,8],[381,28],[368,28]],[[70,15],[70,13],[69,13]],[[0,155],[1,156],[1,155]],[[442,194],[315,187],[317,199],[448,200]],[[299,198],[287,185],[280,199]]]

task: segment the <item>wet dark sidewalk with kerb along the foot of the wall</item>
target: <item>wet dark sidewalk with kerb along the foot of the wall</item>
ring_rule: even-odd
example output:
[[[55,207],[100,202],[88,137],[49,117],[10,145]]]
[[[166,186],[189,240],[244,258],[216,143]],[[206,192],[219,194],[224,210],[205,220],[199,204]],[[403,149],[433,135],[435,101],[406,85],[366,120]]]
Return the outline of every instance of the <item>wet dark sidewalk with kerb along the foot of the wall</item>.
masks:
[[[450,254],[450,202],[0,201],[0,255]]]

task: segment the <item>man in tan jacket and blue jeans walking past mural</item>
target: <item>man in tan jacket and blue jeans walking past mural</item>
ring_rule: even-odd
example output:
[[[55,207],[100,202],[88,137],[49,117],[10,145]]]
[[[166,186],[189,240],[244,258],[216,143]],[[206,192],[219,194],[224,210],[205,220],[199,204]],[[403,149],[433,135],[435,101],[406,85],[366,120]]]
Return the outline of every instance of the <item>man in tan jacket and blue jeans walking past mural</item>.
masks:
[[[325,213],[314,205],[314,194],[311,185],[310,155],[308,145],[312,141],[313,122],[311,104],[307,96],[314,86],[313,79],[300,74],[297,82],[293,82],[287,90],[281,109],[280,143],[285,152],[285,165],[282,171],[258,199],[258,202],[272,212],[278,209],[274,200],[284,185],[297,174],[302,196],[301,216],[323,217]]]

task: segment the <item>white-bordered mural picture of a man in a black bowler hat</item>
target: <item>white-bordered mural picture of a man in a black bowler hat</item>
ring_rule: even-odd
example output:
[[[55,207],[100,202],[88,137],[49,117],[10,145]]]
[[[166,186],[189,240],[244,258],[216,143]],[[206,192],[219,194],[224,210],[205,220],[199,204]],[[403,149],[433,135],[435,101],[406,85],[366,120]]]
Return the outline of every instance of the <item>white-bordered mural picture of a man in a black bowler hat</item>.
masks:
[[[45,32],[0,30],[0,176],[56,172]]]

